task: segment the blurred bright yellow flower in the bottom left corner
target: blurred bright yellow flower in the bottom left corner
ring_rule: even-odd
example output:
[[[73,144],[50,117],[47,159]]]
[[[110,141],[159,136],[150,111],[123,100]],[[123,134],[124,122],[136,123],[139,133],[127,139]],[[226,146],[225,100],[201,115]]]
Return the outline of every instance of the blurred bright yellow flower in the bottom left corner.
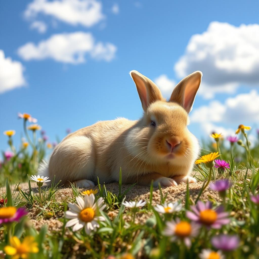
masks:
[[[10,246],[5,246],[4,251],[7,255],[11,255],[12,259],[26,259],[29,253],[38,253],[39,248],[33,236],[26,236],[22,243],[17,236],[13,236],[10,239]]]

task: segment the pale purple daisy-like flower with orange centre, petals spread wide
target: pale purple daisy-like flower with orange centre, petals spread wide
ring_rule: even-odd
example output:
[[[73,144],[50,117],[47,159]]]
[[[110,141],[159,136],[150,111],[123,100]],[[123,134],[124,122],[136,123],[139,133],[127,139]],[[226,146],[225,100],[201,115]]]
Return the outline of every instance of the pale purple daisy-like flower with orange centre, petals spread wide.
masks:
[[[227,218],[228,213],[223,211],[223,207],[219,206],[216,210],[212,210],[212,203],[209,201],[206,203],[198,201],[196,206],[191,206],[191,209],[192,211],[186,211],[186,216],[207,228],[219,229],[230,222]]]

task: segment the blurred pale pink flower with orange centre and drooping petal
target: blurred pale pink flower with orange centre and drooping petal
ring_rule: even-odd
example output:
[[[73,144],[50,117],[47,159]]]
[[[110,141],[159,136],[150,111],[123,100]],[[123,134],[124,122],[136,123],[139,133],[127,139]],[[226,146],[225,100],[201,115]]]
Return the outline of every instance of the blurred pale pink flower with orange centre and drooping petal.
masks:
[[[179,218],[176,220],[167,221],[166,228],[163,234],[165,236],[172,236],[171,241],[175,241],[177,238],[184,241],[187,247],[191,246],[191,237],[196,236],[199,231],[199,226],[194,222],[181,221]]]

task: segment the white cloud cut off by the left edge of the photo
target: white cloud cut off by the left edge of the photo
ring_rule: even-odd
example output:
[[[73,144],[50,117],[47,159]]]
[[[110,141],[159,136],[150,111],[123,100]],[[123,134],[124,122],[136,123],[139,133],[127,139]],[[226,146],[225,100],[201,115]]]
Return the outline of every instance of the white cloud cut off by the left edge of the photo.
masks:
[[[4,51],[0,49],[0,93],[25,85],[23,70],[20,62],[5,57]]]

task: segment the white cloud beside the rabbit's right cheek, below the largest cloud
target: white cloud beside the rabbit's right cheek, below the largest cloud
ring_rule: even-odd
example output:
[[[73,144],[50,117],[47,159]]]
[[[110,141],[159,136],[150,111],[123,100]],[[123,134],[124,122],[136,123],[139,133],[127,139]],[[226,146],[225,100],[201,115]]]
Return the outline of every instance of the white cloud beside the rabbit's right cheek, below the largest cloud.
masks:
[[[259,121],[259,93],[251,90],[235,97],[227,98],[224,103],[212,101],[208,105],[198,107],[192,111],[191,121],[200,123],[206,133],[221,132],[224,135],[234,134],[233,128],[219,127],[219,125],[251,124]]]

